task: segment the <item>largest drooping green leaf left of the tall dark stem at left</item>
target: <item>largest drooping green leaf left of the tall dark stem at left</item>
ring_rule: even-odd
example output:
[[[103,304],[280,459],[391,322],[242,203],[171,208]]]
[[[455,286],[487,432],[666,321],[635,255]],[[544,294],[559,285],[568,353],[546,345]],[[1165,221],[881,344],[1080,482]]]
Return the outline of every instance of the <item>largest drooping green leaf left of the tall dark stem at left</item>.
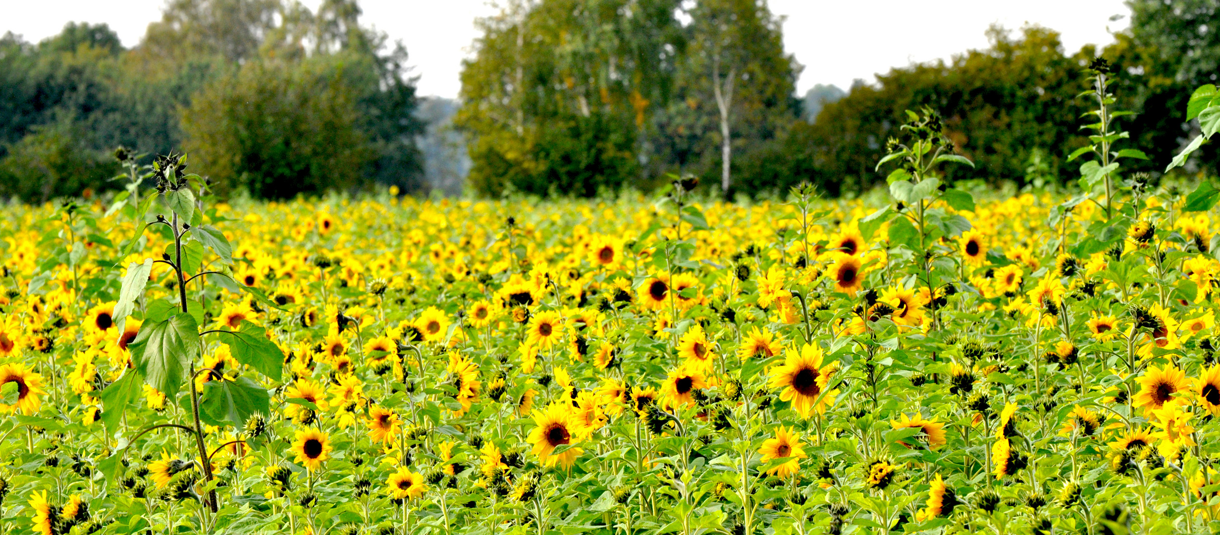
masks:
[[[188,380],[187,369],[199,351],[199,325],[190,314],[177,313],[161,321],[144,322],[132,351],[135,370],[168,398]]]

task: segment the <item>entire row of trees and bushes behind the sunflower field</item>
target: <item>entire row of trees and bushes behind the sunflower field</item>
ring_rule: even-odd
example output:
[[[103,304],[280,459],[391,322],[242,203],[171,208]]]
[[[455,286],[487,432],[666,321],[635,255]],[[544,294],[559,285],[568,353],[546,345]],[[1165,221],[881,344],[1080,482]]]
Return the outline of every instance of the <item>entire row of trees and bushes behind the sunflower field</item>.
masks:
[[[762,0],[509,0],[477,21],[454,111],[421,109],[406,51],[360,26],[356,0],[316,11],[171,0],[131,49],[105,24],[70,23],[40,43],[0,38],[0,195],[104,189],[118,145],[185,150],[222,194],[425,192],[421,148],[461,155],[453,138],[417,143],[437,129],[421,117],[450,136],[450,114],[470,158],[465,187],[482,195],[588,197],[675,175],[730,197],[804,181],[854,194],[881,182],[874,164],[887,139],[905,110],[925,106],[977,165],[947,180],[1063,184],[1080,176],[1066,156],[1087,144],[1078,95],[1098,56],[1120,66],[1111,88],[1135,114],[1119,121],[1149,156],[1135,170],[1155,177],[1198,132],[1186,100],[1215,81],[1220,0],[1127,4],[1130,28],[1100,49],[1068,51],[1049,28],[993,27],[986,49],[802,99],[803,67]],[[1185,172],[1215,172],[1218,156],[1204,147]]]

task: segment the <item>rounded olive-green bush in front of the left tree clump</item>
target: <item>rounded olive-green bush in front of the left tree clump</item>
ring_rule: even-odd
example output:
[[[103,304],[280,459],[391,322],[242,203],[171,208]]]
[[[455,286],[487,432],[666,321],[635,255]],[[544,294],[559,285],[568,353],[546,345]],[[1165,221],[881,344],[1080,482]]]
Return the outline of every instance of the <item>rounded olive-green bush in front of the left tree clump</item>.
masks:
[[[344,65],[251,61],[205,87],[182,117],[185,147],[207,162],[200,172],[221,193],[244,186],[261,198],[357,187],[375,153]]]

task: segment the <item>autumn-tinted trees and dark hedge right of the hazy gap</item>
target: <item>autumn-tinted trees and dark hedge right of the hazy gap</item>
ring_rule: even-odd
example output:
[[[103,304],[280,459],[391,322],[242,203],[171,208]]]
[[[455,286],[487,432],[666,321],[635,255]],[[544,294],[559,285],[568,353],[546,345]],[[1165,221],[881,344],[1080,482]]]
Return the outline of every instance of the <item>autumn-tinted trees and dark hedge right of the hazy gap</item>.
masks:
[[[1059,34],[992,27],[989,46],[794,96],[802,66],[784,54],[781,24],[759,0],[512,1],[479,22],[462,71],[468,184],[505,192],[592,195],[695,176],[721,192],[784,192],[808,181],[824,193],[881,182],[876,161],[905,110],[937,110],[954,150],[977,165],[947,178],[1068,183],[1088,144],[1086,67],[1121,66],[1114,93],[1133,145],[1164,169],[1198,131],[1191,90],[1216,77],[1220,2],[1131,0],[1128,29],[1103,49],[1066,51]],[[844,44],[842,54],[850,54]],[[1214,172],[1216,153],[1190,171]],[[1128,166],[1130,167],[1130,166]]]

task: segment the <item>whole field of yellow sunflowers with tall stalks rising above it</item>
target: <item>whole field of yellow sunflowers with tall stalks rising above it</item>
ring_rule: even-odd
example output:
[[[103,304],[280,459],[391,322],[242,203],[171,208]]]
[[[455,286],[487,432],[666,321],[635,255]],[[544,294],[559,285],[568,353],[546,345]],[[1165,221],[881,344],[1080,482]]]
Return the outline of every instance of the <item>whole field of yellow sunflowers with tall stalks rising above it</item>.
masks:
[[[1220,191],[224,202],[129,154],[0,215],[0,534],[1220,530]],[[1220,127],[1213,87],[1191,99]]]

